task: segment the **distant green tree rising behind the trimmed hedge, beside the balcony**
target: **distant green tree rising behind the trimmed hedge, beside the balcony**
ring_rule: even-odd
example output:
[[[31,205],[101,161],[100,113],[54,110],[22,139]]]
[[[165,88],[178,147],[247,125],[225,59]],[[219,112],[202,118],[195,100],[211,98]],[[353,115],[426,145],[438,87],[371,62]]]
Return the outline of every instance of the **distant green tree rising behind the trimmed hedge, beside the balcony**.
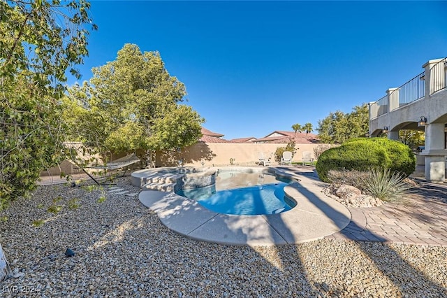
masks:
[[[351,113],[330,112],[323,120],[318,120],[318,137],[323,143],[344,143],[352,138],[368,133],[369,113],[367,104],[355,106]]]

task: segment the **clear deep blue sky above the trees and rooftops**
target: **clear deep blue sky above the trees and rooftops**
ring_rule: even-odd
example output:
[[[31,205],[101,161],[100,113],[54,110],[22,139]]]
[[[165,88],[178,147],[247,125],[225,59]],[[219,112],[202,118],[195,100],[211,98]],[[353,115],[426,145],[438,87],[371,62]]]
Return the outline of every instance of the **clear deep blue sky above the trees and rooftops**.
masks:
[[[447,57],[446,1],[91,1],[91,13],[82,80],[124,43],[157,50],[226,139],[316,128]]]

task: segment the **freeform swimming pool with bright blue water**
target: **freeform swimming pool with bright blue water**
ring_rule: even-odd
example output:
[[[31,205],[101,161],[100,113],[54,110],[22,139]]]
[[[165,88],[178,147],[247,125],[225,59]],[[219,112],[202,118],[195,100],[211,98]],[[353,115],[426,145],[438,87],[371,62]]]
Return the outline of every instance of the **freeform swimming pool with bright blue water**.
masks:
[[[176,193],[217,213],[275,214],[289,211],[296,205],[284,193],[284,186],[290,182],[265,173],[223,171],[217,173],[213,185]]]

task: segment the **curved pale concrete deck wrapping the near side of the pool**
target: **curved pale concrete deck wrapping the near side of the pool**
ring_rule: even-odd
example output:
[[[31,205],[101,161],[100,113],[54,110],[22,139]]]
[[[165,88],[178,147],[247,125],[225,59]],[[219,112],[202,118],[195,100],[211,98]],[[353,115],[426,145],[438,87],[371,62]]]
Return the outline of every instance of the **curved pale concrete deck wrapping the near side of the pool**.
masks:
[[[259,168],[258,168],[259,169]],[[284,187],[297,206],[271,215],[215,213],[174,192],[144,190],[139,199],[156,212],[163,225],[191,239],[228,245],[268,246],[322,239],[351,221],[348,208],[321,192],[325,183],[278,167],[281,175],[300,181]]]

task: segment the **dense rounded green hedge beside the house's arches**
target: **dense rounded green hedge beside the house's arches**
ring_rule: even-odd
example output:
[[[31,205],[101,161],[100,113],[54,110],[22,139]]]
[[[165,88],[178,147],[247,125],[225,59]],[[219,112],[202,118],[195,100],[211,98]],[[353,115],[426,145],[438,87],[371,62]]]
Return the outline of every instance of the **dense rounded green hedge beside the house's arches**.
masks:
[[[328,180],[328,171],[346,169],[367,171],[372,168],[390,169],[409,176],[416,167],[416,157],[411,149],[386,138],[353,139],[342,146],[325,150],[316,163],[321,180]]]

